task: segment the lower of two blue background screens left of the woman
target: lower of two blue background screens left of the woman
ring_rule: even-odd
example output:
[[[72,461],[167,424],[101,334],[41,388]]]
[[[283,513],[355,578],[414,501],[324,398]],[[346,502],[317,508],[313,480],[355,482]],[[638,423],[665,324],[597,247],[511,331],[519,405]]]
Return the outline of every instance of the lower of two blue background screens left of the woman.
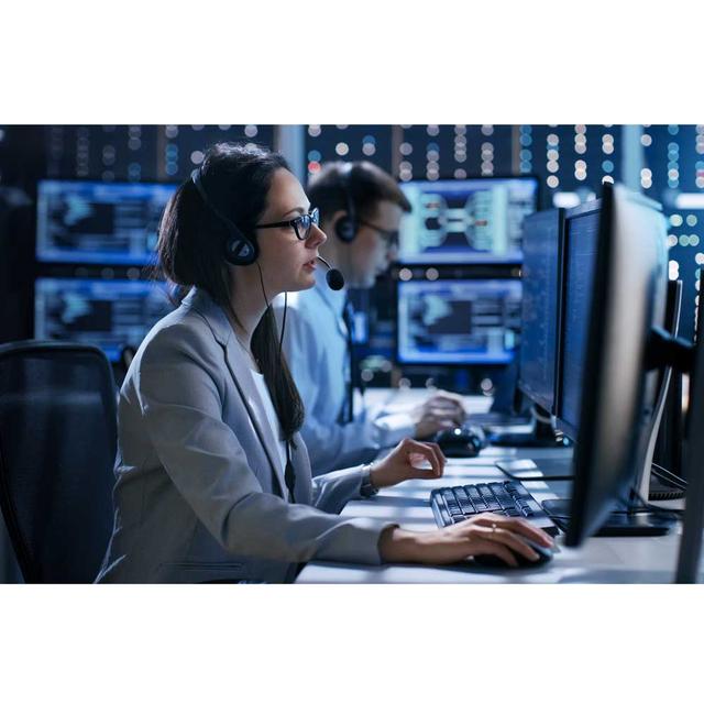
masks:
[[[172,310],[166,285],[156,282],[37,278],[34,337],[95,344],[117,362]]]

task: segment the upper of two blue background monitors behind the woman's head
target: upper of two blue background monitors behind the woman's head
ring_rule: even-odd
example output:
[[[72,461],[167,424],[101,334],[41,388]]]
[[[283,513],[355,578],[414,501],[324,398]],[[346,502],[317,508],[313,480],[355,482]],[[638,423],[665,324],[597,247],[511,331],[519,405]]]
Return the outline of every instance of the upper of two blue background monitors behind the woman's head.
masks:
[[[36,258],[46,263],[146,265],[176,190],[168,184],[41,180]]]

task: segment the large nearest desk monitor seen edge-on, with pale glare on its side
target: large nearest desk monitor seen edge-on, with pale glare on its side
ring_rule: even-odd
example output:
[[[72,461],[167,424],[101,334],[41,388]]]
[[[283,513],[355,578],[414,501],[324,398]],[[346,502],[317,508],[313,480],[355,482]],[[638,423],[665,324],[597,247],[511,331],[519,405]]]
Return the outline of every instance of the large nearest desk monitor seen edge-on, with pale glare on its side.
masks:
[[[592,232],[591,226],[584,230]],[[574,227],[568,250],[570,239],[579,262],[580,253],[592,249],[591,240],[576,242]],[[585,279],[584,384],[578,413],[571,399],[562,406],[579,426],[568,546],[597,531],[619,504],[630,505],[657,398],[648,344],[666,315],[667,226],[657,204],[605,186],[594,244],[594,265]],[[581,294],[565,306],[570,301],[582,309]]]

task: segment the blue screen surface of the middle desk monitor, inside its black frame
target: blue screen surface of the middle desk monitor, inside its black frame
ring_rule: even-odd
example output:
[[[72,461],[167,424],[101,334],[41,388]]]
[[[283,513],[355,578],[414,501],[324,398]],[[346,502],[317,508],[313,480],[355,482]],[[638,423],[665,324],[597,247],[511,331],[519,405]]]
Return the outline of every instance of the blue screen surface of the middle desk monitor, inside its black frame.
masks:
[[[558,414],[574,431],[580,421],[582,371],[591,316],[598,222],[598,211],[566,221],[562,383]]]

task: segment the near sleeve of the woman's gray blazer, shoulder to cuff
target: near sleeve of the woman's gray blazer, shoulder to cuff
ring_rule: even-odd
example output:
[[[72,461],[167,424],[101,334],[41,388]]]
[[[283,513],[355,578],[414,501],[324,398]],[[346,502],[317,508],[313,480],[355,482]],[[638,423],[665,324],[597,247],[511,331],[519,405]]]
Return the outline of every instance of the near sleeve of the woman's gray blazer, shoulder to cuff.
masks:
[[[345,519],[263,492],[222,420],[223,350],[188,326],[161,330],[139,369],[142,417],[165,471],[198,518],[233,553],[287,562],[378,564],[388,525]],[[324,494],[324,492],[323,492]]]

